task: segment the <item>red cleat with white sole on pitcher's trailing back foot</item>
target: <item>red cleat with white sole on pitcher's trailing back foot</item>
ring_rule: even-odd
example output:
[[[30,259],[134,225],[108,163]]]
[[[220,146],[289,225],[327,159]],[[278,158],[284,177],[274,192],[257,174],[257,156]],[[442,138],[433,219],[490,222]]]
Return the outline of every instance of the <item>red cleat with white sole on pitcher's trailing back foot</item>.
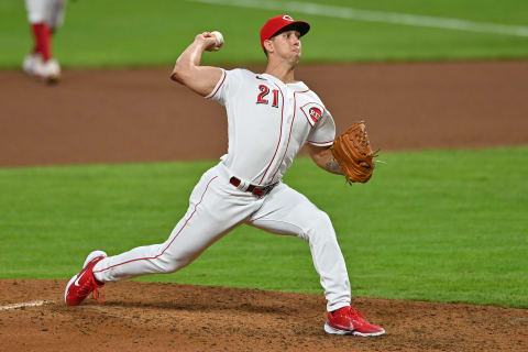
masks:
[[[105,283],[99,283],[94,277],[94,266],[103,260],[107,256],[107,253],[102,251],[94,251],[86,257],[85,264],[82,264],[82,270],[79,274],[74,275],[66,289],[64,290],[64,301],[68,306],[78,306],[90,293],[94,293],[94,299],[99,304],[105,302],[105,296],[100,297],[99,287],[105,286]]]

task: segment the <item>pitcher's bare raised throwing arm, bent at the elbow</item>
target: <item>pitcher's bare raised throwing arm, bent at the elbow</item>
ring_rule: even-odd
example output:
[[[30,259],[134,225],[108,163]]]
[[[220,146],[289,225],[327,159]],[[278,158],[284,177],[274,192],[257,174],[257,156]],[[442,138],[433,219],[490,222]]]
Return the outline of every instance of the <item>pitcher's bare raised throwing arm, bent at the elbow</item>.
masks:
[[[222,76],[222,70],[218,67],[200,66],[201,54],[205,51],[218,52],[222,45],[216,46],[215,34],[209,32],[198,34],[193,44],[179,55],[170,79],[202,97],[208,96]]]

